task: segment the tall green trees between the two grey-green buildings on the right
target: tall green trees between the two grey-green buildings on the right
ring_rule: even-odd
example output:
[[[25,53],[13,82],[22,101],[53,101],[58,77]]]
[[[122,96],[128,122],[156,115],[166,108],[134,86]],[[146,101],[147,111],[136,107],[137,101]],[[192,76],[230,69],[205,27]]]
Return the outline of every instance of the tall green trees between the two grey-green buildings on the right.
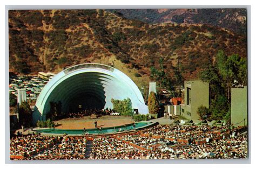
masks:
[[[234,80],[247,85],[247,63],[245,58],[233,54],[229,57],[218,51],[216,61],[200,73],[200,79],[210,84],[210,111],[212,119],[230,121],[231,87]]]

